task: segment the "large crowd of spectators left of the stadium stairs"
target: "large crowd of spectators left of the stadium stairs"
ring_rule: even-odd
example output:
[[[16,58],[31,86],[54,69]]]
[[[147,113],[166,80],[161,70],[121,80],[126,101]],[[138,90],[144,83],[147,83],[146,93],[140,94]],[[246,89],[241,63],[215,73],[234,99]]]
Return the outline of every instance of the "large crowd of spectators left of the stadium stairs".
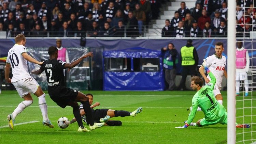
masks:
[[[7,37],[139,36],[157,19],[158,0],[0,0]]]

